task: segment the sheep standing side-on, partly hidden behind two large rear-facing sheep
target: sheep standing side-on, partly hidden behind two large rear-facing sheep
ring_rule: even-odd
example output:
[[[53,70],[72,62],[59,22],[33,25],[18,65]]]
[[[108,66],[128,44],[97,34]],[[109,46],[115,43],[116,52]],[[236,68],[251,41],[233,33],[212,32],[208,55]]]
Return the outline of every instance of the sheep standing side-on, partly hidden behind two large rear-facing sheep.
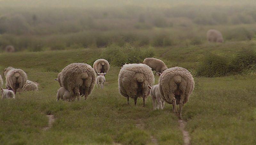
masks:
[[[162,74],[165,69],[168,69],[163,61],[152,57],[145,58],[143,63],[147,64],[150,68],[152,68],[152,70],[155,70],[155,75],[158,74],[158,72]]]

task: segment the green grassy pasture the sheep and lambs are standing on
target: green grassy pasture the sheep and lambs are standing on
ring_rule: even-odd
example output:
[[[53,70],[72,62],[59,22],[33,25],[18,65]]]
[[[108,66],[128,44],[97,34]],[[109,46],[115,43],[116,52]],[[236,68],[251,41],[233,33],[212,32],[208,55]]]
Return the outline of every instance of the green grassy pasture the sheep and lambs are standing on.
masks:
[[[206,52],[233,56],[243,47],[254,49],[255,42],[152,49],[155,57],[165,60],[168,67],[195,70],[200,56]],[[56,102],[59,83],[54,78],[58,73],[73,62],[92,65],[102,50],[1,53],[0,74],[8,66],[23,69],[29,80],[39,83],[39,91],[17,93],[15,99],[0,101],[0,144],[150,145],[156,144],[153,137],[159,145],[182,145],[183,135],[171,105],[153,110],[150,96],[145,107],[141,98],[137,106],[133,100],[128,105],[126,98],[119,94],[120,67],[111,66],[105,88],[94,88],[87,100]],[[156,84],[158,76],[155,79]],[[195,80],[196,88],[182,110],[191,145],[256,144],[256,74],[195,77]],[[55,116],[55,122],[44,131],[49,114]]]

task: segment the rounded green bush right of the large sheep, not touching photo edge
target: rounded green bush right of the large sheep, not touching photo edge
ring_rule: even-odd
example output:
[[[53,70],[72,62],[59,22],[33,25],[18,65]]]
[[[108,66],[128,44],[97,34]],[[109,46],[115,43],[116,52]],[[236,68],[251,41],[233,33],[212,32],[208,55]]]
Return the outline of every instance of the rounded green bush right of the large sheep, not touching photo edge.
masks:
[[[198,76],[205,77],[226,76],[230,72],[230,64],[228,58],[208,53],[202,58],[196,72]]]

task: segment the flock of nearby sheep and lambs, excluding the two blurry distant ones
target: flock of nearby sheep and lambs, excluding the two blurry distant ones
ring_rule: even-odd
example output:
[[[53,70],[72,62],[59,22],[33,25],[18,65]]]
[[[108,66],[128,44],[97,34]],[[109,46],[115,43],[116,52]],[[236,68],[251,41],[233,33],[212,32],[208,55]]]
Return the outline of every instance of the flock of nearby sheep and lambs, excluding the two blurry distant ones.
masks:
[[[158,84],[154,85],[155,77],[152,70],[158,74]],[[57,101],[79,100],[80,96],[86,99],[96,83],[97,89],[104,88],[105,75],[109,71],[109,63],[105,59],[98,59],[93,67],[86,63],[71,63],[58,74],[60,89],[57,92]],[[1,88],[2,98],[15,98],[17,91],[37,91],[36,83],[27,80],[22,69],[8,67],[5,69],[6,89]],[[0,87],[3,80],[0,75]],[[191,73],[182,67],[167,68],[163,61],[156,58],[145,58],[142,63],[125,64],[118,75],[118,88],[121,95],[134,99],[143,98],[143,107],[148,95],[153,100],[153,108],[164,108],[164,102],[172,104],[172,112],[181,118],[182,106],[188,101],[194,89],[194,79]],[[156,100],[156,102],[155,102]],[[156,106],[156,105],[157,106]],[[180,110],[177,111],[176,105]]]

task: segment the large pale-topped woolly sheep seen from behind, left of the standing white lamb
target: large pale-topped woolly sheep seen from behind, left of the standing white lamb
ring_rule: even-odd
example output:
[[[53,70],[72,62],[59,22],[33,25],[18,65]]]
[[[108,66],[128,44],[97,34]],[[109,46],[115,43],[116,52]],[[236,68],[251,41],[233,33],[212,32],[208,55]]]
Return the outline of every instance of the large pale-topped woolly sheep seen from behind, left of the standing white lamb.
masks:
[[[134,99],[143,98],[143,107],[145,107],[145,99],[149,95],[148,85],[152,86],[155,82],[154,74],[151,68],[142,63],[124,64],[118,75],[118,88],[121,95]]]

